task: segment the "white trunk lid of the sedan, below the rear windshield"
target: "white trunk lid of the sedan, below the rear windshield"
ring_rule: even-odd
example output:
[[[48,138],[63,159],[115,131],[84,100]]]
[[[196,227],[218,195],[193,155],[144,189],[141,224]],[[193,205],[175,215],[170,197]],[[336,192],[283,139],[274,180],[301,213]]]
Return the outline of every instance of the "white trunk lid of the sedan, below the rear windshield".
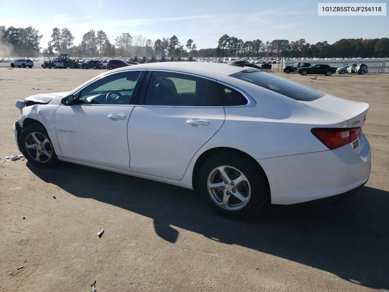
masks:
[[[328,94],[316,100],[300,100],[300,102],[314,111],[347,121],[347,128],[362,128],[370,108],[365,102],[341,99]],[[361,131],[358,138],[350,143],[358,154],[363,150],[364,139],[362,138]]]

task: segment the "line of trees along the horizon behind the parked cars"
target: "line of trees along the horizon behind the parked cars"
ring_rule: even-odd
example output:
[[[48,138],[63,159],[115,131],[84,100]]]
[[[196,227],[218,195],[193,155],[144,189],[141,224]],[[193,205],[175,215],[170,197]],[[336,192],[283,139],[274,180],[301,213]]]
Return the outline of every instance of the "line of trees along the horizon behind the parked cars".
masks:
[[[42,35],[32,28],[0,26],[0,55],[38,56]],[[89,30],[78,45],[68,28],[53,28],[51,40],[43,49],[44,56],[52,56],[54,51],[80,57],[103,56],[198,56],[198,57],[388,57],[389,39],[341,39],[333,44],[327,41],[310,44],[305,39],[286,39],[263,42],[243,41],[225,34],[217,42],[216,48],[197,49],[192,39],[181,43],[177,36],[163,37],[152,42],[142,35],[123,32],[111,43],[103,30]]]

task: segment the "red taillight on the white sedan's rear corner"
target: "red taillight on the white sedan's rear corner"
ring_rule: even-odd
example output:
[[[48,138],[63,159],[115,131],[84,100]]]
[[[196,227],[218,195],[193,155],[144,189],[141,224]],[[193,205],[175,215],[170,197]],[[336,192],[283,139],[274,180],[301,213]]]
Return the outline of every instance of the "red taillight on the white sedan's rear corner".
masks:
[[[332,150],[356,140],[361,133],[361,128],[313,128],[311,132]]]

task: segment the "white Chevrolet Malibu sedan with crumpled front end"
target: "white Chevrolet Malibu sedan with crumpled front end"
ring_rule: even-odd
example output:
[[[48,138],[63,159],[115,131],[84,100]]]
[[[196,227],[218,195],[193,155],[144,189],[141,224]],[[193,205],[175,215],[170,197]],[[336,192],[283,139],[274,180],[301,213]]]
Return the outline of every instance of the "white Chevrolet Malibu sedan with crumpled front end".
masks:
[[[243,65],[134,65],[18,100],[17,148],[37,167],[63,160],[194,189],[231,217],[366,183],[368,104]]]

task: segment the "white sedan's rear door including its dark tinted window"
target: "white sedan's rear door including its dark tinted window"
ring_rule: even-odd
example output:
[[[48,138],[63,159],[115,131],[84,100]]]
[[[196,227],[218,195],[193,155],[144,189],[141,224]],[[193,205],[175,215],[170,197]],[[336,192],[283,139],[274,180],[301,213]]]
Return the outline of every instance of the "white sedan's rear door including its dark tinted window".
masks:
[[[195,155],[224,123],[216,80],[148,71],[128,122],[132,171],[181,179]]]

